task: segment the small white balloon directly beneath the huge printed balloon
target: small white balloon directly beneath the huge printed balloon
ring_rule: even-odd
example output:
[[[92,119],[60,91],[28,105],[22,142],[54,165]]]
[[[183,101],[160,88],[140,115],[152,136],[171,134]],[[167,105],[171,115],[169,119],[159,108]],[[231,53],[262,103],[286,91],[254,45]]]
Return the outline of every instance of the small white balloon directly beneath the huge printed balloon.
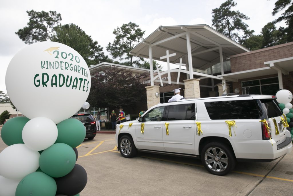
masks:
[[[32,150],[45,150],[55,143],[58,128],[46,117],[36,117],[28,121],[22,130],[24,144]]]

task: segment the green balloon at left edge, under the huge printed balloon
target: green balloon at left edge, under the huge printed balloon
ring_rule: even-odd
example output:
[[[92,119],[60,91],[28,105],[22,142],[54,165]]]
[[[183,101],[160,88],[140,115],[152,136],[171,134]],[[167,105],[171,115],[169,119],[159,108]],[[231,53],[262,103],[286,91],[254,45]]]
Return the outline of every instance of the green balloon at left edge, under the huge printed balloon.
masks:
[[[30,119],[18,116],[8,120],[1,129],[1,138],[8,146],[13,144],[24,144],[22,140],[22,129]]]

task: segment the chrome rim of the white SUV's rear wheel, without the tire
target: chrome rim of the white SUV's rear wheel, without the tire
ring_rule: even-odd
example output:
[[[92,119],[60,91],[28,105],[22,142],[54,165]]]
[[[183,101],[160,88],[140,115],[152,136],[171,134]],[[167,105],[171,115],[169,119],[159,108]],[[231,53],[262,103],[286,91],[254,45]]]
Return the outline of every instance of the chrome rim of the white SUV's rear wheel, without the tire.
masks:
[[[222,172],[228,166],[228,157],[222,148],[210,147],[205,151],[205,164],[210,170]]]

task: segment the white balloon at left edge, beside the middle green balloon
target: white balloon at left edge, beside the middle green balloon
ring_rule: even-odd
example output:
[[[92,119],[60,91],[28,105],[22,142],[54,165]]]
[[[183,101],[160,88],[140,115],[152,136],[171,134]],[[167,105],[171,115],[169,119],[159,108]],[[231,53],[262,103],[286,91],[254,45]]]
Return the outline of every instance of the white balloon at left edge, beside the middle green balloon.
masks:
[[[0,175],[21,180],[39,167],[40,153],[25,144],[13,144],[0,153]]]

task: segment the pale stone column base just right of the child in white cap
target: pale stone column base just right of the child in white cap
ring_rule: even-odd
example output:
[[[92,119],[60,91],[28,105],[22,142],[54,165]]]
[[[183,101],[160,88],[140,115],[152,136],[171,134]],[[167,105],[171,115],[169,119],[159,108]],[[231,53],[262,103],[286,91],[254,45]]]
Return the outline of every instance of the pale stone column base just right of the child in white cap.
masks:
[[[184,98],[200,98],[200,79],[187,79],[184,81]]]

